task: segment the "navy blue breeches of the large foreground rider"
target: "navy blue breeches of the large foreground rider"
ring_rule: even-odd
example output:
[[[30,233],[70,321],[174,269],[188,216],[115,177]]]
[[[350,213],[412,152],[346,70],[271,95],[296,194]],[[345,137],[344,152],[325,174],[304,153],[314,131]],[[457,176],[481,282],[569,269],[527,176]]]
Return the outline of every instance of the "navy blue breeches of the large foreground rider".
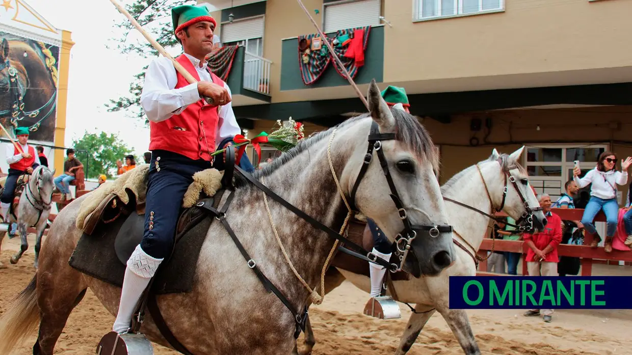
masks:
[[[244,159],[248,159],[245,154],[242,161]],[[217,155],[216,161],[222,162],[223,169],[222,155]],[[164,150],[152,152],[145,202],[145,234],[140,242],[140,247],[152,258],[162,259],[171,254],[186,189],[193,183],[193,174],[210,167],[215,166],[205,160],[192,160]],[[246,167],[245,170],[250,169]]]

